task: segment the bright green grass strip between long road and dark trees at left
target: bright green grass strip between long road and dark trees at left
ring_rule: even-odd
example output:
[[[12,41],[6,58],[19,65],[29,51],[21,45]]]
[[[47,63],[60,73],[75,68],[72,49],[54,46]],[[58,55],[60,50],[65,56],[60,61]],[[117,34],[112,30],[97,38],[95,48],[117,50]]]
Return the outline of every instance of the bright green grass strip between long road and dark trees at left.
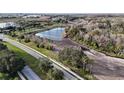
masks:
[[[13,45],[11,45],[9,43],[5,42],[4,44],[7,45],[9,50],[15,52],[18,56],[23,58],[26,61],[26,64],[29,65],[33,69],[33,71],[40,76],[40,78],[42,78],[42,79],[46,78],[46,76],[38,68],[39,61],[36,58],[34,58],[33,56],[29,55],[25,51],[15,47],[15,46],[13,46]]]

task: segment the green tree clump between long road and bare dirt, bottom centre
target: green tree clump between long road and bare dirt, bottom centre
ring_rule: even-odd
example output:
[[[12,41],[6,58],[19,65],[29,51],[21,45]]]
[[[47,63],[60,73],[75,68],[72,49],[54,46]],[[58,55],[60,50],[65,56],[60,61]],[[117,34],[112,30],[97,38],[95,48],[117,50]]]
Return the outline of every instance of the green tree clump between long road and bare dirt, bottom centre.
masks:
[[[85,79],[95,79],[90,71],[92,62],[81,50],[65,48],[59,52],[59,60]]]

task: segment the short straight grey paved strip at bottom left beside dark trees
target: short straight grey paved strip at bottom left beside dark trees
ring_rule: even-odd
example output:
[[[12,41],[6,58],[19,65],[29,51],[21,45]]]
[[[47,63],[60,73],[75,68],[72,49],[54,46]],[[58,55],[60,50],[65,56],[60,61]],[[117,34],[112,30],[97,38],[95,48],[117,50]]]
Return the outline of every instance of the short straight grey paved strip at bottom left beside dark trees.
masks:
[[[25,66],[21,72],[28,80],[41,80],[40,77],[29,66]]]

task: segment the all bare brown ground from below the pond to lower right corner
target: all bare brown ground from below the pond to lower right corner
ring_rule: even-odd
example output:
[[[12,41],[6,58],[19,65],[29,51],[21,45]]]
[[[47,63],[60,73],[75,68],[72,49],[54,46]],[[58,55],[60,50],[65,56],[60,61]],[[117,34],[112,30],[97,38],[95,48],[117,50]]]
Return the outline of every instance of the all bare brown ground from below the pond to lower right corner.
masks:
[[[101,80],[124,80],[124,59],[106,56],[103,53],[89,49],[86,46],[80,45],[68,38],[61,42],[54,42],[56,50],[60,51],[64,47],[82,47],[82,51],[93,59],[91,71],[97,79]]]

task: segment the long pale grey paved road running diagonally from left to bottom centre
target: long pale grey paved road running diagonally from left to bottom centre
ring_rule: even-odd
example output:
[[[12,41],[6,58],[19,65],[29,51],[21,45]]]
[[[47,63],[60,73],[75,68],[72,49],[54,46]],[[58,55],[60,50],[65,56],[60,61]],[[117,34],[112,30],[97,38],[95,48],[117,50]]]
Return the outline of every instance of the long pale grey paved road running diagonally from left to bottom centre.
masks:
[[[42,53],[24,45],[24,44],[21,44],[15,40],[11,40],[9,38],[5,38],[4,37],[4,41],[24,50],[25,52],[27,52],[28,54],[34,56],[35,58],[39,59],[39,58],[48,58],[51,60],[51,62],[53,62],[53,66],[59,70],[61,70],[63,73],[64,73],[64,79],[66,80],[77,80],[77,79],[80,79],[80,80],[84,80],[84,78],[80,77],[79,75],[77,75],[76,73],[74,73],[73,71],[71,71],[69,68],[67,67],[64,67],[62,64],[60,64],[59,62],[43,55]]]

